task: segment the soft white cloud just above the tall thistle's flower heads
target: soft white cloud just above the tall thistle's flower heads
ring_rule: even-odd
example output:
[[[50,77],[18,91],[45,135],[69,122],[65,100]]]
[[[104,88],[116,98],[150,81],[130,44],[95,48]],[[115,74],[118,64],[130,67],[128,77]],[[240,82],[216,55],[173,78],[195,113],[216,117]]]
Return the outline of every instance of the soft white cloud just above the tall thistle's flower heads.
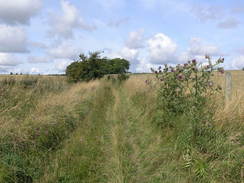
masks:
[[[190,40],[190,47],[188,52],[191,56],[220,56],[220,50],[217,46],[205,43],[202,39],[198,37],[193,37]]]

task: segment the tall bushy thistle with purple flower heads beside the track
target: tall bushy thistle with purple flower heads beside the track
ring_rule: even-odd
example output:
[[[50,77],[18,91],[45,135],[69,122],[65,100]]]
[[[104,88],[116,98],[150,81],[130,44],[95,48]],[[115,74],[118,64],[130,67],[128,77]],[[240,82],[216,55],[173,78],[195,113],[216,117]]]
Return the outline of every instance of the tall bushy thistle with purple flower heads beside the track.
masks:
[[[212,62],[209,56],[205,56],[207,64],[198,63],[195,59],[175,67],[159,67],[152,69],[159,83],[158,111],[159,125],[172,126],[180,115],[191,116],[191,120],[197,123],[207,121],[213,111],[206,110],[211,97],[221,90],[213,81],[215,72],[224,73],[219,67],[224,58]],[[207,114],[207,115],[205,115]]]

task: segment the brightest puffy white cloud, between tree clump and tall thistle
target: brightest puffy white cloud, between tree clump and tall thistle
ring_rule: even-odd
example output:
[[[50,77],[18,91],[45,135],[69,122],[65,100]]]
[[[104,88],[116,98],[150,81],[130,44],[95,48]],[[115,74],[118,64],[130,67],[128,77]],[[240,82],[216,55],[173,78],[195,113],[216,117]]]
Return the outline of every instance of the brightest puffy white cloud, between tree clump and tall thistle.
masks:
[[[147,49],[151,63],[164,64],[175,63],[177,61],[175,58],[177,45],[170,37],[163,33],[155,34],[149,39]]]

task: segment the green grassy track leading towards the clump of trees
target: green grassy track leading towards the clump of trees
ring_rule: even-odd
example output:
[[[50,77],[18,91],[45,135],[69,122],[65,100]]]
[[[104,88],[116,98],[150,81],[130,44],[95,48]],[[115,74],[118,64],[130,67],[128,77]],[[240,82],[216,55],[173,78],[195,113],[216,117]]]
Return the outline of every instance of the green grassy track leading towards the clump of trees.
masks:
[[[99,92],[39,182],[162,182],[162,139],[148,114],[125,88]]]

